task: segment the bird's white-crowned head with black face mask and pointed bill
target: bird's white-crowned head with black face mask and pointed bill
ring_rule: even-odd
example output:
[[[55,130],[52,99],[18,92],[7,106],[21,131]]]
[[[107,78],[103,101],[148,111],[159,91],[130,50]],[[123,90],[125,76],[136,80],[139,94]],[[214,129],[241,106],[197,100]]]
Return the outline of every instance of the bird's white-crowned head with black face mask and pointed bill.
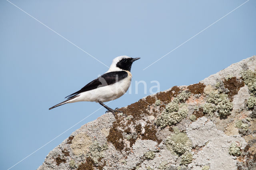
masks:
[[[132,58],[128,56],[119,56],[113,59],[112,64],[110,65],[109,71],[120,71],[126,70],[131,71],[132,63],[140,58]]]

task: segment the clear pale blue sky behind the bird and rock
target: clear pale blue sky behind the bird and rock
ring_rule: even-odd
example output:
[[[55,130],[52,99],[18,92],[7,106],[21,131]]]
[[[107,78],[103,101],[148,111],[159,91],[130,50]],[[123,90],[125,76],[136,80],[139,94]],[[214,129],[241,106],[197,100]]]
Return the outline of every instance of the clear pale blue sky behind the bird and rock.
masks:
[[[150,81],[158,81],[160,91],[190,85],[256,55],[254,0],[206,30],[246,0],[11,2],[108,66],[120,55],[141,57],[132,66],[131,93],[109,103],[112,108],[149,95],[156,85]],[[48,111],[108,68],[34,18],[0,1],[1,169],[10,168],[101,107],[79,102]],[[147,83],[146,94],[142,84],[135,93],[136,81]],[[105,111],[96,111],[12,169],[38,168],[50,150]]]

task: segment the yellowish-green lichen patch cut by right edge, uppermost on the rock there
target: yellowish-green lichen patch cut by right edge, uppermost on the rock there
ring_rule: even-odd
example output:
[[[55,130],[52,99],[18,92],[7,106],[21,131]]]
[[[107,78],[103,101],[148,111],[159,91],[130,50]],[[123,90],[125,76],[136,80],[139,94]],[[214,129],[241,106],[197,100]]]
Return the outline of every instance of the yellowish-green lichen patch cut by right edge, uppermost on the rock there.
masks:
[[[248,86],[248,89],[256,95],[256,72],[252,70],[246,70],[241,72],[244,83]]]

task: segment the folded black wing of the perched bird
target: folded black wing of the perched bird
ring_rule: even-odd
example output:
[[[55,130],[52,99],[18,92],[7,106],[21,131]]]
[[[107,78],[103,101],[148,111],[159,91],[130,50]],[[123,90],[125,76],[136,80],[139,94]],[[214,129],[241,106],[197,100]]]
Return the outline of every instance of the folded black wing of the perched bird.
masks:
[[[105,73],[104,75],[98,77],[97,79],[91,81],[90,83],[88,83],[87,85],[85,85],[81,90],[68,95],[68,99],[70,99],[71,97],[74,97],[75,95],[78,95],[79,93],[85,92],[85,91],[89,91],[92,89],[96,89],[98,87],[104,87],[106,85],[111,85],[114,84],[122,79],[124,79],[125,77],[128,76],[128,73],[126,71],[112,71],[112,72],[108,72]],[[65,98],[67,98],[65,97]]]

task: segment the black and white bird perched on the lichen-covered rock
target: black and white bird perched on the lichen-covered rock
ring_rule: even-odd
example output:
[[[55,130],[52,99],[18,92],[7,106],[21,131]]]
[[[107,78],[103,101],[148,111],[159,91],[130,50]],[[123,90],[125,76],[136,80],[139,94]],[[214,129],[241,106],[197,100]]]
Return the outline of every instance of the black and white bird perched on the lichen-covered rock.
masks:
[[[66,103],[92,101],[100,103],[100,105],[108,109],[108,112],[112,112],[113,114],[114,112],[120,112],[117,110],[118,108],[115,110],[111,109],[103,102],[112,101],[126,93],[132,81],[132,74],[130,72],[132,63],[137,59],[140,58],[131,58],[128,56],[114,58],[109,70],[105,74],[91,81],[79,91],[68,95],[65,97],[68,98],[66,101],[63,101],[50,109]]]

